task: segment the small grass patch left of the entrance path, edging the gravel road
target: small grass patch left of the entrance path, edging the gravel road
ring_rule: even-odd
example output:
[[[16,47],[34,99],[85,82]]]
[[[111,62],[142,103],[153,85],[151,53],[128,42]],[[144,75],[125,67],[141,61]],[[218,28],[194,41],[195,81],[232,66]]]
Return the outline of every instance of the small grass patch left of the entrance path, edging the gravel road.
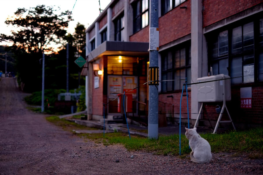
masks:
[[[79,125],[75,122],[71,122],[68,120],[65,120],[64,118],[59,118],[57,116],[50,116],[46,117],[46,120],[54,123],[55,125],[62,127],[64,130],[72,131],[72,130],[97,130],[97,128],[87,127],[84,125]]]

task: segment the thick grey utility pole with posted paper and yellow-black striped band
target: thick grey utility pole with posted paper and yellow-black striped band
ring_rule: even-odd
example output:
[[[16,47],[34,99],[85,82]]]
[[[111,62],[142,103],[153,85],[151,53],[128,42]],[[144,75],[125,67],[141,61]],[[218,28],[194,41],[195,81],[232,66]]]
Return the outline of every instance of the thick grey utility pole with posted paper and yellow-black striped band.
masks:
[[[158,0],[150,0],[150,31],[149,31],[149,51],[150,63],[149,72],[154,72],[158,79],[158,50],[159,50],[159,23],[158,23]],[[153,67],[152,69],[150,69]],[[155,71],[153,70],[155,69]],[[157,71],[156,71],[157,70]],[[151,74],[149,73],[149,75]],[[153,76],[153,75],[152,75]],[[149,77],[149,80],[150,79]],[[156,82],[158,83],[158,82]],[[158,139],[158,85],[149,83],[149,117],[148,117],[148,138]]]

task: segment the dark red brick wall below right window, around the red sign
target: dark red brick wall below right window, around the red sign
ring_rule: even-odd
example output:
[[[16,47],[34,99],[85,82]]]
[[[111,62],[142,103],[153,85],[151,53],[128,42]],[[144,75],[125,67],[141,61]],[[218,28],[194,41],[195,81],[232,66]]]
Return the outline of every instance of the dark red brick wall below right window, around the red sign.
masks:
[[[223,103],[205,104],[205,108],[211,120],[217,120],[219,114],[216,113],[216,105],[222,107]],[[245,124],[262,124],[263,123],[263,87],[252,87],[252,108],[240,108],[240,88],[231,88],[231,101],[226,102],[226,107],[229,110],[230,116],[235,122]],[[206,115],[205,115],[205,118]],[[224,111],[222,120],[228,120],[226,110]]]

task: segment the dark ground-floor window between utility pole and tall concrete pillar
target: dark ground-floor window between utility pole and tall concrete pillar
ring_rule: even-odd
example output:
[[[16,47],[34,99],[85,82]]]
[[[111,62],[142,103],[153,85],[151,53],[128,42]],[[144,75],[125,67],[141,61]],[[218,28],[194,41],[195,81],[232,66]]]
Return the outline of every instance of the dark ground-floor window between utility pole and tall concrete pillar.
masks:
[[[177,80],[163,81],[162,92],[181,90],[187,77],[188,82],[191,82],[191,47],[175,46],[161,53],[162,57],[162,80]]]

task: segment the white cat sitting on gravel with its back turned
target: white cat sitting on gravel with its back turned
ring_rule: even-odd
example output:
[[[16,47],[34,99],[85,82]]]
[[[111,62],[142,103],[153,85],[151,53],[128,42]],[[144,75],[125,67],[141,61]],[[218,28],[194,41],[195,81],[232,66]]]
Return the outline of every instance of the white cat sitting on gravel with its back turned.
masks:
[[[190,157],[195,163],[209,163],[212,159],[211,147],[205,139],[203,139],[194,129],[186,129],[185,136],[189,140],[192,149]]]

